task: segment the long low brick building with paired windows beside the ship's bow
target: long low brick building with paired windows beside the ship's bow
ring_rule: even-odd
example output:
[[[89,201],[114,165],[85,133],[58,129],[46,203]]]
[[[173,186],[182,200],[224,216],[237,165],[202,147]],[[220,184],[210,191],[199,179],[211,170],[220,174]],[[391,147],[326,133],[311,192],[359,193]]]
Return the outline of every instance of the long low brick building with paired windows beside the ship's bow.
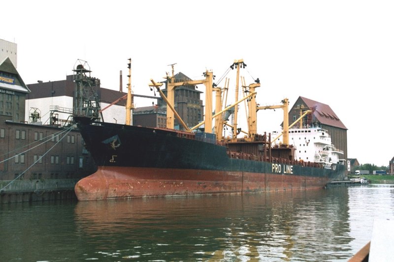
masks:
[[[1,180],[18,176],[19,180],[80,179],[95,172],[93,159],[75,129],[68,132],[66,128],[18,123],[0,116],[0,146],[2,159],[9,159],[0,163]]]

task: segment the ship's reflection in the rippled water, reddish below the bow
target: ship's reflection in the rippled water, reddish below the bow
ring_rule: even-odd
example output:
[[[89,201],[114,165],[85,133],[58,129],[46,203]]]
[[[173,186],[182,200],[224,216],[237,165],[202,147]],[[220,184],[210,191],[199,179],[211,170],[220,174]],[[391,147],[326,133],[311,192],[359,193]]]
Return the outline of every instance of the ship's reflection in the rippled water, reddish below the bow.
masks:
[[[91,258],[345,261],[348,198],[342,188],[79,202],[74,220]]]

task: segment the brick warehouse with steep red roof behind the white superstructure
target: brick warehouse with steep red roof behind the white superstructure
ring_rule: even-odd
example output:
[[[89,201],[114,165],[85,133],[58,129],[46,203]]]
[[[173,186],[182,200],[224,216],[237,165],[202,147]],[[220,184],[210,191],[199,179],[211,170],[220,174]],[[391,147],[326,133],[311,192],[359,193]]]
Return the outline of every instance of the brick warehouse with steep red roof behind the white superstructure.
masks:
[[[300,116],[300,111],[306,110],[312,110],[313,113],[303,117],[303,124],[319,125],[326,129],[331,136],[331,143],[343,151],[343,159],[347,160],[347,128],[329,105],[299,96],[289,111],[289,125]]]

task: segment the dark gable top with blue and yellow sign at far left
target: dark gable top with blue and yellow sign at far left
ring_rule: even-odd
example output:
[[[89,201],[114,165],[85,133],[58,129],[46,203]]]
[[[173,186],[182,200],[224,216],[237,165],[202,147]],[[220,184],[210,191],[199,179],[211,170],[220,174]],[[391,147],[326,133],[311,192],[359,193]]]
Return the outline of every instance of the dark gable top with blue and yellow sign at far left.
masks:
[[[6,57],[0,62],[0,72],[7,73],[13,77],[13,78],[3,77],[4,80],[7,79],[7,81],[9,80],[10,82],[7,83],[7,81],[0,80],[0,88],[23,92],[23,93],[30,93],[29,88],[23,82],[21,76],[16,70],[14,64],[11,62],[10,58]]]

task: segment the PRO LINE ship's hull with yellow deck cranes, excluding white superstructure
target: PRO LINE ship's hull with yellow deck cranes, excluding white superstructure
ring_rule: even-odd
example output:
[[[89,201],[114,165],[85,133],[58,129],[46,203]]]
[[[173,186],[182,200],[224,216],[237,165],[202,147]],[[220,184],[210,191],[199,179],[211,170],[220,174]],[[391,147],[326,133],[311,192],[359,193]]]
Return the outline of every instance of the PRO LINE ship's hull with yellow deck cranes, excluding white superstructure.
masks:
[[[127,119],[126,124],[103,122],[98,114],[74,116],[85,146],[98,166],[96,173],[75,185],[78,200],[320,189],[341,177],[343,165],[328,169],[322,164],[295,158],[295,147],[288,141],[288,99],[284,99],[282,105],[259,107],[255,100],[256,88],[260,87],[258,79],[246,87],[244,93],[248,95],[238,99],[239,69],[245,66],[242,59],[234,60],[230,66],[237,70],[236,102],[224,109],[221,104],[224,88],[212,83],[212,72],[206,71],[203,80],[186,83],[204,84],[206,101],[212,101],[212,93],[216,92],[217,113],[212,114],[212,105],[206,103],[204,121],[193,128],[185,125],[173,107],[174,89],[185,85],[174,80],[173,67],[172,76],[167,74],[166,95],[160,88],[162,83],[151,80],[150,84],[167,103],[166,128],[132,126]],[[129,80],[131,97],[130,87]],[[248,131],[238,138],[241,129],[237,127],[237,105],[245,100],[249,108]],[[126,109],[131,108],[132,98],[128,97]],[[232,125],[229,124],[233,135],[224,137],[223,114],[229,108],[234,109],[234,119]],[[280,145],[273,143],[275,139],[271,139],[271,134],[257,133],[256,112],[275,108],[284,110]],[[92,110],[86,112],[92,113]],[[174,117],[184,130],[173,129]],[[203,130],[198,129],[202,125]]]

